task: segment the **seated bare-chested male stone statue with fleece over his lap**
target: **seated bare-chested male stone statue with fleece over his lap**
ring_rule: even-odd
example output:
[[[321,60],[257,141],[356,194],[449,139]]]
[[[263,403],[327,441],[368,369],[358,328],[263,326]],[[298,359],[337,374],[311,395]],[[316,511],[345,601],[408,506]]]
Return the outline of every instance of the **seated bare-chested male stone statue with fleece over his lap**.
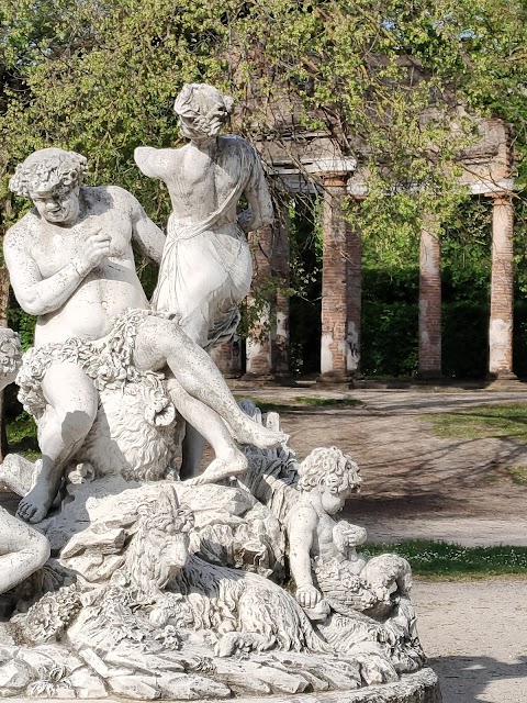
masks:
[[[126,379],[168,366],[178,411],[212,444],[214,470],[220,465],[227,476],[247,468],[234,439],[261,446],[285,439],[238,409],[214,364],[177,320],[149,310],[132,245],[159,260],[162,234],[128,192],[82,186],[86,170],[78,154],[42,149],[18,167],[10,183],[35,205],[4,239],[14,293],[23,310],[38,316],[35,350],[21,371],[32,377],[38,369],[36,384],[46,402],[38,420],[41,472],[19,507],[33,523],[47,514],[65,466],[94,422],[93,373]],[[79,341],[94,358],[100,355],[102,369],[93,372],[89,358],[80,361],[87,355]]]

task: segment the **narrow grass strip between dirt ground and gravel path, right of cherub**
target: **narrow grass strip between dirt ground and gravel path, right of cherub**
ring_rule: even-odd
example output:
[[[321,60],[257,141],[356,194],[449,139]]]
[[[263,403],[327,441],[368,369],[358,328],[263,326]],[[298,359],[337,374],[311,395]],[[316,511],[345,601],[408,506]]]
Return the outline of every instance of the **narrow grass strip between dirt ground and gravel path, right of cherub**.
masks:
[[[362,550],[367,556],[386,551],[405,557],[415,576],[440,580],[527,574],[527,547],[462,547],[416,539],[391,545],[366,545]]]

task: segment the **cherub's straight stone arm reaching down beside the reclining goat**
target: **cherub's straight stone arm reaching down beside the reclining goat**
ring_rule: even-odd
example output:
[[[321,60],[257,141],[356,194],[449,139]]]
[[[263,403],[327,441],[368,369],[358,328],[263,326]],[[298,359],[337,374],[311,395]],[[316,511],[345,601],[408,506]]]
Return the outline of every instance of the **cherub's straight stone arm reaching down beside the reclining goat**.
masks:
[[[318,517],[307,505],[293,509],[289,518],[289,561],[296,584],[296,600],[304,607],[314,607],[321,593],[313,584],[311,549]]]

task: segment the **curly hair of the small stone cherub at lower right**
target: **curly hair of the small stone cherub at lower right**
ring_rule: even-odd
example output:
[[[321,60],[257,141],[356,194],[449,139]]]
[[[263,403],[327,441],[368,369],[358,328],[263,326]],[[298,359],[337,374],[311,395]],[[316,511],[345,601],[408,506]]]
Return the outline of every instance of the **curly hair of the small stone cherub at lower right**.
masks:
[[[350,456],[337,447],[319,447],[305,457],[299,467],[299,489],[311,491],[324,483],[330,493],[351,489],[359,491],[360,469]]]

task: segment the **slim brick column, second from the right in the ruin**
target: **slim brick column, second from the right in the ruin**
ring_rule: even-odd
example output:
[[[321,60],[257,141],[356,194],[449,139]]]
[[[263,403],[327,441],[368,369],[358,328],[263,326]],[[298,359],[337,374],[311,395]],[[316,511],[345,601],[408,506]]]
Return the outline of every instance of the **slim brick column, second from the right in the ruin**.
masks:
[[[430,220],[421,231],[418,376],[441,376],[441,244]]]

